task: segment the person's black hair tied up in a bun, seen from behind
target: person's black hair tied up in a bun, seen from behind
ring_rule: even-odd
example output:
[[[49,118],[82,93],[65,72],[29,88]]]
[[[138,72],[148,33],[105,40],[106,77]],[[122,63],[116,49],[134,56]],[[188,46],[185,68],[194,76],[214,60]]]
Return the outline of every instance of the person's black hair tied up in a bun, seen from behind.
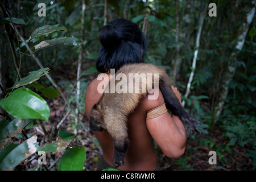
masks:
[[[117,71],[122,65],[142,63],[147,40],[138,25],[119,18],[106,24],[100,32],[101,49],[96,67],[101,73]]]

